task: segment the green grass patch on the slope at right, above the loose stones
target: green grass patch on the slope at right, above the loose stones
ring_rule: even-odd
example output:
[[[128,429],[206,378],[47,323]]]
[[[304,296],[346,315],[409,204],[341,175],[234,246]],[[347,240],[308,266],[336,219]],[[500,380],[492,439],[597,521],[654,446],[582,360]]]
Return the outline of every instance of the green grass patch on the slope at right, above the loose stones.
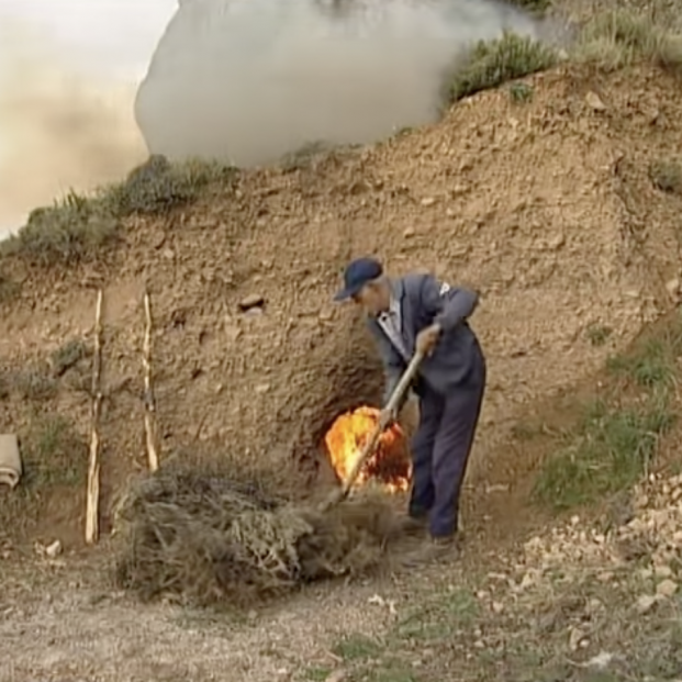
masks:
[[[561,434],[558,450],[538,473],[535,499],[562,511],[635,484],[648,470],[660,437],[675,422],[681,356],[682,317],[675,315],[628,354],[611,358],[607,371],[626,384],[611,387],[578,425]]]

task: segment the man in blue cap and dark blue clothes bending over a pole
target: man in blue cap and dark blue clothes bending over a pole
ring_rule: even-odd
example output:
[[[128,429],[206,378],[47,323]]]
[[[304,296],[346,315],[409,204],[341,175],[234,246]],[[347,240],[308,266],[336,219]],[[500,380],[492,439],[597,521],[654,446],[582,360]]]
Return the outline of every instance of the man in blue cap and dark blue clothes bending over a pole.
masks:
[[[448,546],[485,390],[485,359],[468,323],[478,294],[426,273],[390,279],[378,260],[360,258],[348,265],[335,295],[347,299],[364,309],[377,340],[387,376],[384,404],[411,357],[425,354],[413,385],[420,425],[406,525],[427,524],[434,543]],[[382,412],[383,423],[395,417]]]

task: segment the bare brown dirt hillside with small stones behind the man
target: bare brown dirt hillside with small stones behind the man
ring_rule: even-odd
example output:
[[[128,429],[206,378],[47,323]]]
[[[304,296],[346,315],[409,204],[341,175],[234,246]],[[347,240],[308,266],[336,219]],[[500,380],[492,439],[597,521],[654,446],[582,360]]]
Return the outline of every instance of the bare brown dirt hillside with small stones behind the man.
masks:
[[[525,103],[508,89],[483,92],[437,125],[361,152],[239,172],[168,217],[131,219],[98,261],[67,271],[3,262],[21,288],[0,303],[0,368],[16,379],[5,380],[0,433],[29,439],[36,420],[63,416],[78,447],[87,441],[89,362],[63,373],[54,365],[69,344],[90,343],[103,284],[111,501],[145,466],[147,286],[163,456],[228,454],[303,481],[324,459],[334,417],[379,399],[370,342],[354,311],[331,300],[346,261],[376,254],[392,272],[427,268],[482,293],[473,324],[490,387],[467,502],[488,513],[485,485],[527,474],[508,448],[519,416],[670,309],[680,270],[682,201],[649,177],[682,148],[677,86],[645,67],[606,79],[567,66],[526,82]],[[249,297],[265,303],[242,312]],[[614,333],[594,345],[595,328]],[[41,391],[51,358],[54,385]],[[81,493],[44,504],[31,533],[75,543]]]

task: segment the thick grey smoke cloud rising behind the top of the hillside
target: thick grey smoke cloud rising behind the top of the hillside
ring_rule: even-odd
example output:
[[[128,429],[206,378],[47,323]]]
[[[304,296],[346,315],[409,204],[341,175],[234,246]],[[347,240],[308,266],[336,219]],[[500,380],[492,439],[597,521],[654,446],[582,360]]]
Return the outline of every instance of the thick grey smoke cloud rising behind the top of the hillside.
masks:
[[[239,166],[376,141],[433,121],[444,70],[504,30],[541,27],[494,0],[186,0],[136,116],[153,153]]]

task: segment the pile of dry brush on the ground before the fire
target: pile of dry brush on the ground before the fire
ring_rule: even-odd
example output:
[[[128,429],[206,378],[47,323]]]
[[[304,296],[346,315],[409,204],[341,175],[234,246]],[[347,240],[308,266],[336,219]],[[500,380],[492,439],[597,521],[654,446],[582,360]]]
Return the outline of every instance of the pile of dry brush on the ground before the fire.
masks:
[[[192,471],[139,480],[116,513],[116,580],[143,600],[245,606],[314,580],[376,567],[395,529],[368,492],[327,512]]]

